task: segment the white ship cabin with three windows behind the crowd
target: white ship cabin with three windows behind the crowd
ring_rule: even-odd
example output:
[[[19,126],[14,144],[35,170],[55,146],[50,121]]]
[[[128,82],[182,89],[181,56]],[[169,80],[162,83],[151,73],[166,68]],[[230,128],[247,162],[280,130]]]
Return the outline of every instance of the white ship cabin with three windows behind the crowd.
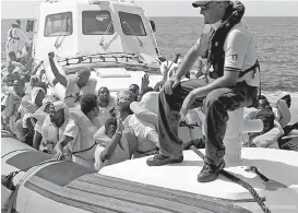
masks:
[[[34,57],[138,52],[155,59],[154,31],[154,22],[131,1],[48,0],[36,14]]]

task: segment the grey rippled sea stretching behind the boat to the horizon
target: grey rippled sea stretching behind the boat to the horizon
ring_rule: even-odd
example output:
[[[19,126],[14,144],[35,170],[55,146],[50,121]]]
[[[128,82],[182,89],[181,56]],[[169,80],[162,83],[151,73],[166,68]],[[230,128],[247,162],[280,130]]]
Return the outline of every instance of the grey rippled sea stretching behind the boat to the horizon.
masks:
[[[174,59],[198,40],[201,17],[153,17],[162,55]],[[12,20],[1,21],[1,50]],[[259,50],[262,86],[266,91],[298,92],[298,17],[245,17]],[[26,20],[22,20],[25,28]],[[2,55],[3,56],[3,55]],[[2,58],[2,57],[1,57]]]

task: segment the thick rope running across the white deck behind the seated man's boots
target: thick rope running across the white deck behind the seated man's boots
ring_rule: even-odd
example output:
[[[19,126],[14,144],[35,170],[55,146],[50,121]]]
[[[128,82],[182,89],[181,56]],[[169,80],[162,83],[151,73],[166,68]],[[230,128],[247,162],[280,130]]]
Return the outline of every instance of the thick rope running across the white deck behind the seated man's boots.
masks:
[[[190,149],[198,154],[202,159],[204,159],[204,154],[202,152],[200,152],[194,145],[191,145]],[[250,194],[253,197],[253,199],[257,201],[257,203],[260,205],[260,208],[263,210],[264,213],[271,213],[270,209],[265,205],[265,198],[261,198],[259,196],[259,193],[255,191],[255,189],[253,189],[253,187],[246,182],[245,180],[236,177],[235,175],[222,169],[219,171],[219,174],[222,174],[223,176],[225,176],[226,178],[230,179],[231,181],[240,185],[241,187],[246,188]]]

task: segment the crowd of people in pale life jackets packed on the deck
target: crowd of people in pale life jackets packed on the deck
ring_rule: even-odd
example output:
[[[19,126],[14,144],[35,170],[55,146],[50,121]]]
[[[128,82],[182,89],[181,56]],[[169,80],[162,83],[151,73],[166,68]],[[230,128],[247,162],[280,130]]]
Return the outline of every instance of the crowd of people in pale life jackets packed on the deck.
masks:
[[[49,54],[50,61],[52,58],[53,56]],[[127,91],[119,92],[116,98],[105,86],[95,91],[96,83],[90,83],[94,82],[90,70],[84,70],[75,76],[63,76],[62,81],[65,81],[63,100],[55,95],[47,95],[47,84],[38,80],[31,82],[32,88],[29,94],[26,93],[27,80],[16,75],[13,92],[2,99],[2,127],[12,131],[20,141],[52,154],[56,159],[68,158],[97,170],[103,166],[130,158],[156,154],[159,150],[158,92],[170,78],[169,72],[175,73],[179,64],[164,60],[160,67],[165,78],[154,86],[155,90],[148,86],[148,74],[145,74],[140,86],[131,84]],[[55,63],[52,69],[57,69]],[[202,66],[199,69],[198,73],[205,72],[202,71]],[[200,75],[195,78],[200,79]],[[71,85],[73,81],[75,86]],[[94,91],[86,90],[90,85]],[[72,102],[70,97],[73,97]],[[261,132],[249,133],[243,146],[282,149],[282,137],[297,129],[297,123],[288,126],[289,94],[283,94],[278,98],[278,104],[272,107],[265,96],[260,96],[258,106],[246,115],[245,119],[261,119],[264,129]],[[196,143],[196,146],[204,147],[202,133],[204,118],[202,116],[194,118],[198,120],[193,123],[199,123],[194,130],[195,137],[201,142]],[[182,131],[180,135],[187,143],[193,138],[183,135],[183,128],[189,132],[194,125],[183,123],[186,121],[180,122],[179,128]],[[270,133],[274,129],[274,133]],[[272,140],[269,142],[267,138],[272,134],[274,138],[271,137]],[[263,142],[262,135],[266,138],[266,143]]]

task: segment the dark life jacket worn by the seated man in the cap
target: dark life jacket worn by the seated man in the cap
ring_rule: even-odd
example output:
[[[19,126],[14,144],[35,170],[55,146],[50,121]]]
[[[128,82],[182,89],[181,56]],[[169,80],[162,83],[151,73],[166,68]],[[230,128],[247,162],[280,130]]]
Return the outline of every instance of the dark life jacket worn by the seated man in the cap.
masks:
[[[245,14],[245,5],[241,2],[230,4],[227,9],[226,15],[223,19],[222,25],[211,34],[208,50],[202,58],[207,58],[208,62],[213,67],[213,72],[210,72],[211,79],[217,79],[224,75],[225,51],[224,44],[230,29],[238,24]],[[250,71],[255,71],[259,67],[257,61],[254,66],[240,73],[239,78],[242,78]]]

